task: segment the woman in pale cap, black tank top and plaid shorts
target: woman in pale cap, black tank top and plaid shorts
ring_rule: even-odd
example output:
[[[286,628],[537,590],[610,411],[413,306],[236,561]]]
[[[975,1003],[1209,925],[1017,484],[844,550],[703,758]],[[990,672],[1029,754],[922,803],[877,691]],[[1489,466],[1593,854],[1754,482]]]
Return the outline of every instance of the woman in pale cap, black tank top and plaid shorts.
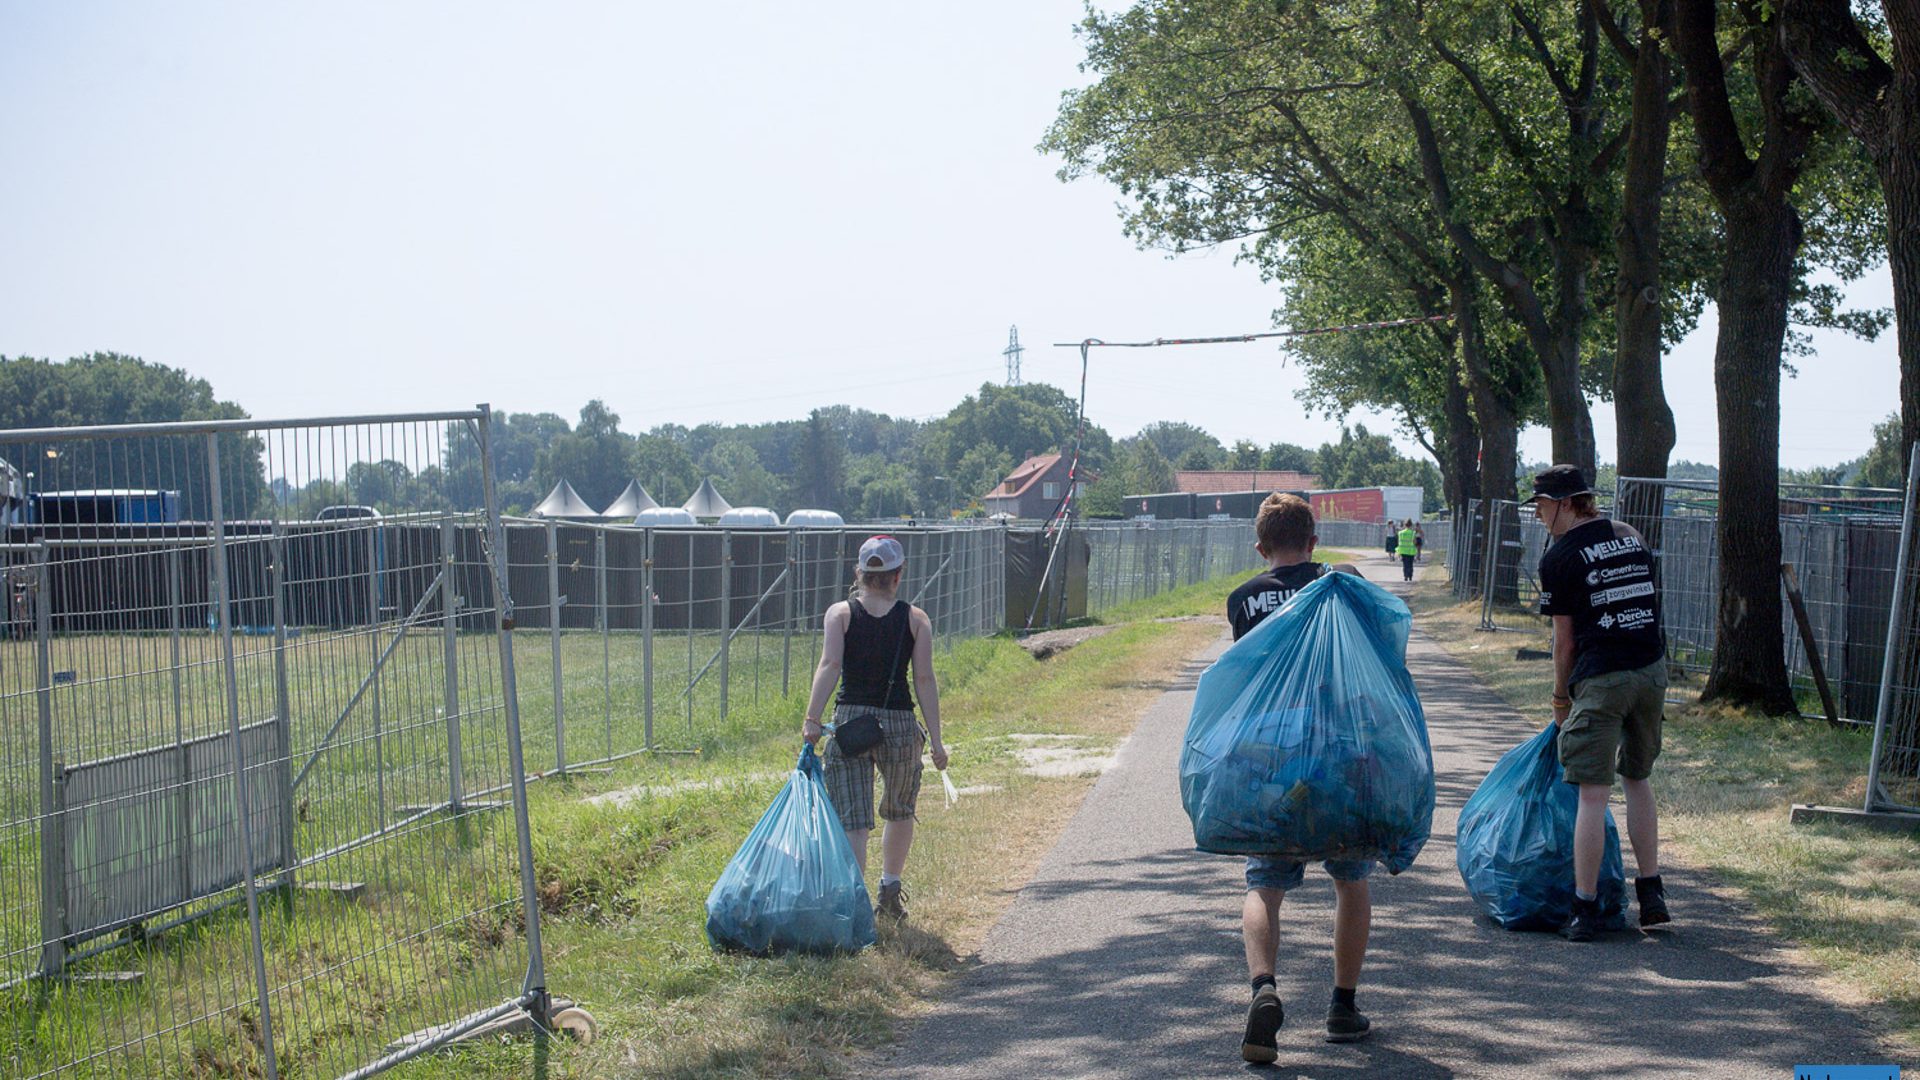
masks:
[[[879,836],[876,907],[891,919],[906,919],[906,888],[900,884],[900,872],[914,844],[922,746],[931,744],[933,767],[947,769],[941,698],[933,682],[933,623],[925,611],[895,596],[904,565],[906,552],[893,536],[870,536],[860,544],[852,596],[828,607],[814,694],[801,724],[801,738],[806,742],[818,742],[826,734],[820,717],[835,684],[839,684],[839,698],[833,703],[835,732],[856,717],[872,715],[879,721],[879,744],[847,755],[837,738],[828,740],[824,763],[828,796],[839,811],[847,840],[860,857],[862,872],[866,840],[874,830],[874,773],[879,771],[885,784],[879,817],[887,824]],[[914,675],[912,688],[906,680],[908,667]],[[914,721],[916,696],[927,719],[925,734]]]

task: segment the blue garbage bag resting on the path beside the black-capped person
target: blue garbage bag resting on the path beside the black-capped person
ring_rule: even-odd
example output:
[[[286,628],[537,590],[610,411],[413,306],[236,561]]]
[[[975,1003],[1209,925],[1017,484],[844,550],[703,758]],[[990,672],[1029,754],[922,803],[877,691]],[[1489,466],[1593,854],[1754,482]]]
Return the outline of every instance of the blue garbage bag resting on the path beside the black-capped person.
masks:
[[[1459,811],[1459,876],[1482,911],[1507,930],[1557,930],[1572,919],[1572,819],[1580,788],[1559,767],[1559,728],[1509,749]],[[1599,861],[1599,920],[1626,926],[1620,832],[1607,811]]]

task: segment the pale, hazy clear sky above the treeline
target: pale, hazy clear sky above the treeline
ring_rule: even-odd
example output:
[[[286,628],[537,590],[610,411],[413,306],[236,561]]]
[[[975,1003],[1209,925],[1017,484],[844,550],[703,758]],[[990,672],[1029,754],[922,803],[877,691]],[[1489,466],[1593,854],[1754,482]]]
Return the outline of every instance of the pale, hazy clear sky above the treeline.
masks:
[[[1139,252],[1035,154],[1079,12],[0,0],[0,354],[138,354],[259,417],[603,398],[637,430],[937,415],[1010,323],[1069,390],[1052,342],[1267,329],[1231,252]],[[1885,271],[1855,292],[1891,304]],[[1895,407],[1891,334],[1818,344],[1788,465]],[[1711,352],[1709,321],[1668,361],[1678,457],[1715,459]],[[1273,346],[1096,363],[1114,434],[1338,432]]]

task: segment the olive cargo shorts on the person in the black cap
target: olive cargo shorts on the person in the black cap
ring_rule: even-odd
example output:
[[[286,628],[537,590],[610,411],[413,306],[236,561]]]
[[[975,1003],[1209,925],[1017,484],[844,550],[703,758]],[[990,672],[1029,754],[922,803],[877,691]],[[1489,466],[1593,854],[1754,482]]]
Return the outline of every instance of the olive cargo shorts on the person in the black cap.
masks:
[[[1569,784],[1613,784],[1653,774],[1667,709],[1667,659],[1582,678],[1561,723],[1559,755]]]

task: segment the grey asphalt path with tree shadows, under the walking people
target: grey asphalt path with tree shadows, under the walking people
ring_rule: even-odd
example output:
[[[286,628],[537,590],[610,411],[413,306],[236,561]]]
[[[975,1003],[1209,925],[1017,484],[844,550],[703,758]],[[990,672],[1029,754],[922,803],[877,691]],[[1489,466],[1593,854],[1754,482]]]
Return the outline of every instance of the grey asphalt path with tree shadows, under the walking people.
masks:
[[[1363,569],[1402,588],[1398,565],[1377,557]],[[858,1074],[1786,1078],[1795,1065],[1887,1061],[1809,967],[1670,861],[1674,922],[1655,932],[1576,945],[1480,917],[1453,865],[1455,817],[1534,726],[1415,630],[1407,661],[1440,799],[1419,861],[1373,878],[1359,1007],[1375,1034],[1323,1042],[1332,888],[1313,867],[1281,913],[1281,1061],[1244,1065],[1240,861],[1192,849],[1177,784],[1194,678],[1225,646],[1223,636],[1165,686],[979,963]]]

